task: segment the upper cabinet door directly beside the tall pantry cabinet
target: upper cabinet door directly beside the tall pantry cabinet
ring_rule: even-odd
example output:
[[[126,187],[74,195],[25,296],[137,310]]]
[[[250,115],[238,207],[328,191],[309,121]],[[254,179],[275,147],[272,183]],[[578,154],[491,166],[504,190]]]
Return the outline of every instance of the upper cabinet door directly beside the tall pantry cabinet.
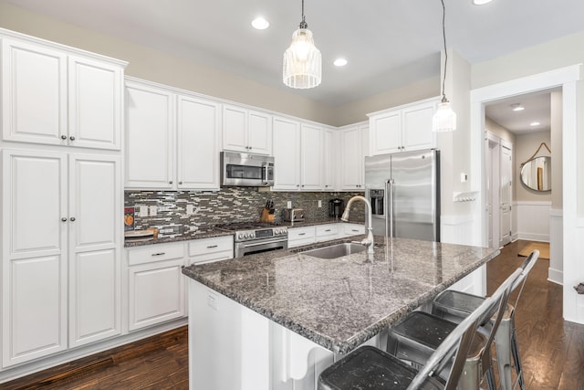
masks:
[[[167,90],[126,82],[126,187],[172,189],[173,97]]]

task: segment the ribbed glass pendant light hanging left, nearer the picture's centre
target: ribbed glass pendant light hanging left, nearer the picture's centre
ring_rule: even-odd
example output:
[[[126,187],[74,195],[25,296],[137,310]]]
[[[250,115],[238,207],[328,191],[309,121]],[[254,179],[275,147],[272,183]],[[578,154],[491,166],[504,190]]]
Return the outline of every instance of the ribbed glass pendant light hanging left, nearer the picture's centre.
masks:
[[[322,80],[322,58],[304,19],[304,0],[302,21],[292,34],[292,44],[284,53],[282,79],[288,87],[297,89],[314,88]]]

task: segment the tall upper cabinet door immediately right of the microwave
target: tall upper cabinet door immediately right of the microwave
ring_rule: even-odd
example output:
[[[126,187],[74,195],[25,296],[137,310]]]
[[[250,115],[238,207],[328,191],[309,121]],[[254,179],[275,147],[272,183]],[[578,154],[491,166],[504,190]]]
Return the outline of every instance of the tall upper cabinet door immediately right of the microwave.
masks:
[[[274,189],[300,188],[300,124],[274,118]]]

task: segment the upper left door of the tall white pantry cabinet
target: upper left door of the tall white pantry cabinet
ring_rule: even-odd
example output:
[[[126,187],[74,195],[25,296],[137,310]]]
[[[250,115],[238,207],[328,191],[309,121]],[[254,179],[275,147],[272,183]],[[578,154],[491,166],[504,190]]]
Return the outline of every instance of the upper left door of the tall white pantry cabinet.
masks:
[[[67,57],[63,53],[3,38],[2,83],[5,141],[67,144]]]

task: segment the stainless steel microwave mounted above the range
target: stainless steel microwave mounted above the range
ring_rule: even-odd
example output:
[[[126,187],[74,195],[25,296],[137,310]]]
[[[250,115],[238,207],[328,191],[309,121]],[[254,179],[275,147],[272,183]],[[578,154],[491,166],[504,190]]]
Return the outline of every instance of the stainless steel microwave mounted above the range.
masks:
[[[221,152],[221,184],[251,187],[274,185],[274,157]]]

